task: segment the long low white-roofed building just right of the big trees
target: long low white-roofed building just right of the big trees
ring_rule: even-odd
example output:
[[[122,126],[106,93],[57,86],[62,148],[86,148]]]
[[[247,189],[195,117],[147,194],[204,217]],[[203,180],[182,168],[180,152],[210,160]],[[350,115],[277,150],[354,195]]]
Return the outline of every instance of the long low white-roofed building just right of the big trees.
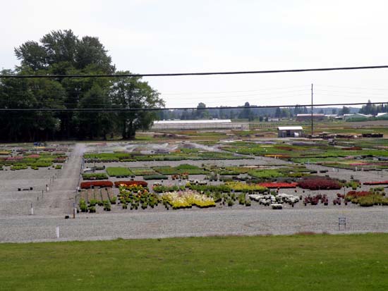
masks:
[[[249,130],[249,123],[232,123],[230,119],[159,120],[151,130]]]

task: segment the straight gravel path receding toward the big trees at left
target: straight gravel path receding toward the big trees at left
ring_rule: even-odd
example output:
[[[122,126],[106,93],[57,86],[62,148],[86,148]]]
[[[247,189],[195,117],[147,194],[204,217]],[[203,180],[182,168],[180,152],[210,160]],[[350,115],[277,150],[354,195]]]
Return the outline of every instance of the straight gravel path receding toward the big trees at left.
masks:
[[[85,144],[76,144],[67,163],[49,185],[49,192],[39,205],[37,213],[41,215],[70,214],[73,208],[75,189],[78,186],[81,162]]]

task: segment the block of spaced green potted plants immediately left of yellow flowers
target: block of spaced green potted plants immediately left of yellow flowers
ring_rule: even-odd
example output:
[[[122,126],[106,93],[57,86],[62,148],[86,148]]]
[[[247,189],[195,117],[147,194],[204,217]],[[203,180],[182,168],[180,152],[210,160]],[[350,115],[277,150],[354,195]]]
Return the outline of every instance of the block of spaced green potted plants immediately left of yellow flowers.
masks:
[[[161,199],[157,194],[148,191],[147,187],[141,185],[120,186],[119,200],[123,209],[147,209],[148,206],[154,208]]]

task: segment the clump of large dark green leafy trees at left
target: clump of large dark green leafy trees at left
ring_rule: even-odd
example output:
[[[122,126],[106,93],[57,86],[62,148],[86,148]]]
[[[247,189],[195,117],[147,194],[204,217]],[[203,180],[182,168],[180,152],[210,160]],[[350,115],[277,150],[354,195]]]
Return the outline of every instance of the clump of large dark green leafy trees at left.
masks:
[[[2,75],[110,75],[117,71],[97,37],[52,31],[40,42],[15,49],[20,66]],[[141,78],[0,78],[1,109],[147,109],[163,107],[159,93]],[[2,141],[135,137],[157,118],[152,111],[6,111],[0,115]]]

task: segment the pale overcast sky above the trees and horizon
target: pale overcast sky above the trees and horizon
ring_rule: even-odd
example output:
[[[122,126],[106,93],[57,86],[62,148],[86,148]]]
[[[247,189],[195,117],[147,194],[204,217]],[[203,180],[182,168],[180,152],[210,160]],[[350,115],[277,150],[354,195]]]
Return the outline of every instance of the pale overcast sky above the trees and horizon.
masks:
[[[180,73],[388,65],[388,1],[19,0],[0,11],[0,68],[51,30],[99,37],[119,70]],[[146,78],[168,107],[388,101],[388,69]]]

